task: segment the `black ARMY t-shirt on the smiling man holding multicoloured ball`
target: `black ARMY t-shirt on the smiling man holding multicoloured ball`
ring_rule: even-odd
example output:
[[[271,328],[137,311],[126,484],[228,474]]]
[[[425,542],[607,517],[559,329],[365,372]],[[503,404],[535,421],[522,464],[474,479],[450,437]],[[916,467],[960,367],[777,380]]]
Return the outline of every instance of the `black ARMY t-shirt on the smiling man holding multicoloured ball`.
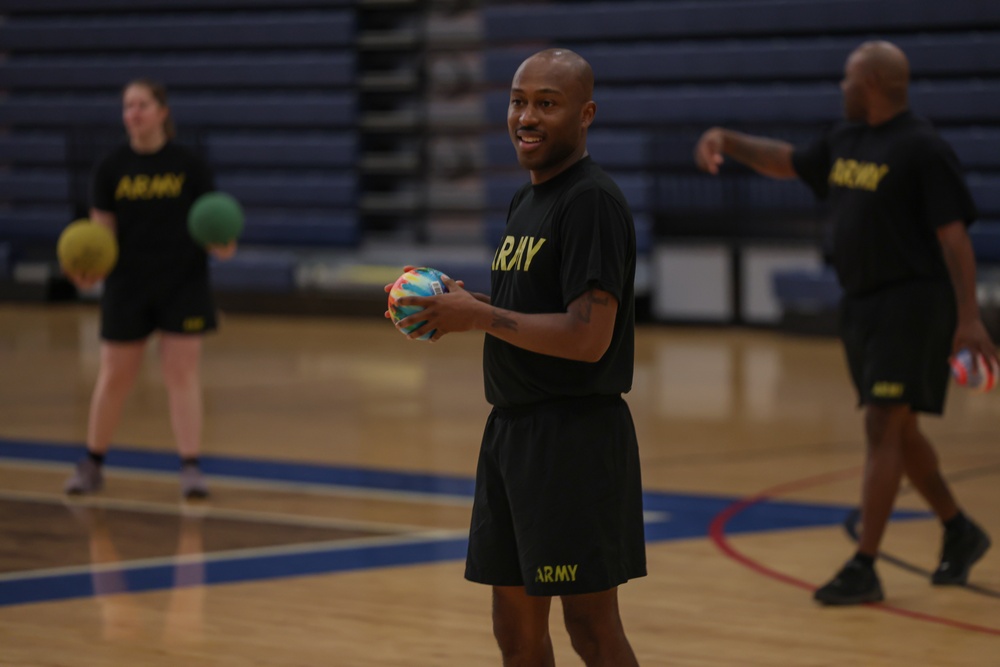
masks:
[[[589,157],[515,194],[492,264],[491,302],[561,313],[595,287],[618,300],[611,345],[595,363],[529,352],[487,335],[486,399],[498,407],[622,394],[635,348],[635,225],[621,190]]]

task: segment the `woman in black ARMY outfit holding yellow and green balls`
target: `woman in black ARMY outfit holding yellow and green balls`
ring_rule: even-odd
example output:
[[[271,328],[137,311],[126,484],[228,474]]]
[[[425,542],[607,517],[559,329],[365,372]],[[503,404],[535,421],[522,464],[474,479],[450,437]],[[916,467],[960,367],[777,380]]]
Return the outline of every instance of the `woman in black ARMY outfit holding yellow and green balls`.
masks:
[[[110,229],[118,260],[106,277],[67,270],[81,288],[104,278],[100,369],[91,398],[87,453],[66,481],[70,494],[99,491],[104,457],[125,398],[142,364],[146,342],[159,332],[159,357],[170,421],[181,459],[181,493],[203,498],[199,466],[202,337],[217,326],[208,254],[228,259],[236,242],[202,247],[188,231],[188,211],[215,189],[208,165],[178,145],[166,90],[149,80],[127,84],[122,120],[128,141],[98,164],[92,186],[93,223]]]

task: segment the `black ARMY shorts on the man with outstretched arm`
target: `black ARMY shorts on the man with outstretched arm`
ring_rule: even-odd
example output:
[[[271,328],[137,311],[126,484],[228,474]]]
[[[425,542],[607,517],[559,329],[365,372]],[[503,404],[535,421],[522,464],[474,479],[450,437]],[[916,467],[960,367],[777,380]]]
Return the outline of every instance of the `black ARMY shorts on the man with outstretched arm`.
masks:
[[[904,403],[941,414],[948,391],[955,293],[912,281],[841,303],[841,338],[860,405]]]

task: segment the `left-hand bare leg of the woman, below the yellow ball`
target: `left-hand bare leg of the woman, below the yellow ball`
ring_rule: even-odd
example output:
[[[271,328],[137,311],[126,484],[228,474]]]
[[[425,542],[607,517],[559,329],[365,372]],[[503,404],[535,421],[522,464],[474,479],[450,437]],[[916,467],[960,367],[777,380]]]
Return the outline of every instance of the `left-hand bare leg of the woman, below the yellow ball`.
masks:
[[[108,451],[122,408],[142,366],[146,341],[101,343],[101,366],[90,399],[87,449],[95,454]]]

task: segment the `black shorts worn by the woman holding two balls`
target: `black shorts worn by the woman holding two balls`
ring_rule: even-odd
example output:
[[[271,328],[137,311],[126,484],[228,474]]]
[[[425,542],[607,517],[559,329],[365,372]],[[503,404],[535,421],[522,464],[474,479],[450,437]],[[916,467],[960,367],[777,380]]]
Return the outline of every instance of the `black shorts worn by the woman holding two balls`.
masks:
[[[101,295],[101,338],[136,341],[156,330],[203,334],[218,326],[207,275],[171,280],[123,280],[114,274]]]

